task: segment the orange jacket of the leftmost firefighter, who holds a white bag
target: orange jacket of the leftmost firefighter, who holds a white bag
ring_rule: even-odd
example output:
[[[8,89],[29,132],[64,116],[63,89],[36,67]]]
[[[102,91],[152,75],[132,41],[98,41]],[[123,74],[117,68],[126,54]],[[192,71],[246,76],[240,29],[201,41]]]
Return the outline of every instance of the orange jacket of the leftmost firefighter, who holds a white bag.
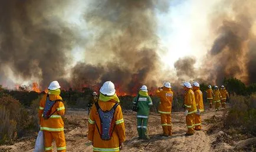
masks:
[[[50,131],[50,132],[60,132],[60,131],[64,131],[64,122],[63,119],[61,118],[64,114],[65,114],[65,107],[63,102],[61,101],[57,101],[51,109],[51,117],[48,119],[44,119],[42,117],[43,114],[43,110],[45,107],[45,103],[46,103],[46,98],[47,98],[47,94],[44,94],[42,96],[42,99],[40,101],[40,107],[39,107],[39,111],[38,111],[38,117],[40,120],[40,130],[44,130],[44,131]],[[53,100],[62,100],[62,98],[60,97],[60,95],[49,95],[49,98],[51,101]],[[57,110],[55,113],[54,111]]]

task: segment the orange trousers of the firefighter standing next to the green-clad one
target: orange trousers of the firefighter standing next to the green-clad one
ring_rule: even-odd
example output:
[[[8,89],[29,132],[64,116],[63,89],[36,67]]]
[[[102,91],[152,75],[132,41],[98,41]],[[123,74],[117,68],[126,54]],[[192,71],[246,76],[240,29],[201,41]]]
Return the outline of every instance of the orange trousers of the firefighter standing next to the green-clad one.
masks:
[[[163,134],[166,136],[172,135],[172,118],[170,114],[161,114],[161,124]]]

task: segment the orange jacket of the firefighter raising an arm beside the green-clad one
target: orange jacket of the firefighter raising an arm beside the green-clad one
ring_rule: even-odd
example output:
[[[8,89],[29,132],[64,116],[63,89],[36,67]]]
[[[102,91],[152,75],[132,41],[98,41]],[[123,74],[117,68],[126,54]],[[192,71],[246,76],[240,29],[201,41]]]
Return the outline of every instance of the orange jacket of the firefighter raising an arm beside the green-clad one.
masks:
[[[156,96],[160,97],[158,112],[160,114],[170,114],[172,111],[173,100],[173,92],[170,88],[163,87],[163,90],[157,90]]]

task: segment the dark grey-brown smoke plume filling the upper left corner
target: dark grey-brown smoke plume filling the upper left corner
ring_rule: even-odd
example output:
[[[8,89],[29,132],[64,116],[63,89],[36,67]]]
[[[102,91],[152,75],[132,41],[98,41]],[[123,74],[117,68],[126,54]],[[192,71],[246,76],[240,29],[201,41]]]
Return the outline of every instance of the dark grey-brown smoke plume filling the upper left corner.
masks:
[[[66,1],[0,0],[0,67],[45,88],[65,75],[73,33],[54,14]],[[7,74],[8,75],[8,74]]]

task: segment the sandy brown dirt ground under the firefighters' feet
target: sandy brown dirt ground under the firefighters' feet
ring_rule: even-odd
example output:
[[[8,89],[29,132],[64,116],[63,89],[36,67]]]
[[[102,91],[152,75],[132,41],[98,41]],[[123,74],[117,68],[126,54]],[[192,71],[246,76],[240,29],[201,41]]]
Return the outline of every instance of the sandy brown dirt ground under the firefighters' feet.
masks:
[[[183,112],[172,113],[173,136],[162,137],[160,115],[150,114],[148,134],[150,140],[139,140],[136,130],[136,113],[123,111],[126,126],[126,142],[122,151],[232,151],[231,145],[224,141],[216,141],[220,136],[227,136],[224,132],[212,128],[211,118],[222,119],[227,109],[218,112],[205,110],[202,114],[202,131],[196,131],[193,136],[186,137],[186,124]],[[65,115],[65,138],[67,151],[92,151],[87,140],[88,116],[83,109],[68,109]],[[0,146],[0,151],[33,151],[35,136],[19,140],[12,146]],[[56,147],[54,144],[54,151]]]

